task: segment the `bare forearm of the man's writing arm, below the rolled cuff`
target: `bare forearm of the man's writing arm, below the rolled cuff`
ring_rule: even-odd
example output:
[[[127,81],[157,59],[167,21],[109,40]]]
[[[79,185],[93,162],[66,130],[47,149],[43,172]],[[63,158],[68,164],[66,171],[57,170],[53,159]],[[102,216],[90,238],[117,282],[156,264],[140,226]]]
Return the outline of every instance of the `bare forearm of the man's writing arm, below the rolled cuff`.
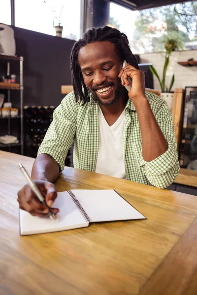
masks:
[[[33,180],[47,180],[53,182],[59,175],[58,163],[48,154],[40,154],[33,163]]]

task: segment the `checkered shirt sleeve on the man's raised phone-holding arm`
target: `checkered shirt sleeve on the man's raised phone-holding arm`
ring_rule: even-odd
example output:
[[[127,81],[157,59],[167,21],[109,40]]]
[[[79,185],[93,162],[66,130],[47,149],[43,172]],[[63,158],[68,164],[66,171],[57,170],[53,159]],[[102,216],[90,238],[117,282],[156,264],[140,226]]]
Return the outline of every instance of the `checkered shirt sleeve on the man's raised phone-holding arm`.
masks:
[[[168,148],[151,162],[144,161],[141,156],[139,166],[143,168],[144,174],[152,185],[164,189],[174,181],[180,169],[173,116],[166,102],[162,104],[155,118],[162,129]]]

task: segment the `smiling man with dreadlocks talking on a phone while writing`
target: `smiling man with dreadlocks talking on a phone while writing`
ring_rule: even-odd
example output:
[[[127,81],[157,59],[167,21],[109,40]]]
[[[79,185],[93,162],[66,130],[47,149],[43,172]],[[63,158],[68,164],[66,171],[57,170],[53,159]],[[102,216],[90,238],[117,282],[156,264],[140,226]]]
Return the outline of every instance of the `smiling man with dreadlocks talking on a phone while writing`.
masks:
[[[57,196],[52,182],[73,141],[75,168],[159,188],[170,185],[179,172],[172,114],[163,99],[145,93],[144,73],[127,36],[109,27],[89,30],[72,48],[70,69],[74,91],[55,110],[32,170],[48,206]],[[18,201],[33,215],[48,213],[28,185]]]

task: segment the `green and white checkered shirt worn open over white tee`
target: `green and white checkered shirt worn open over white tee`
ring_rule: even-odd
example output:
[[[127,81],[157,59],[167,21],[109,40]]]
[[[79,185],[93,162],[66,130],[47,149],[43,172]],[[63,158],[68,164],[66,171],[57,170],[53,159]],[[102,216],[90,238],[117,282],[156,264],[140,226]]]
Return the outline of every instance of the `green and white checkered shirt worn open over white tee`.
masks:
[[[146,92],[146,97],[168,142],[168,149],[157,159],[151,162],[144,161],[139,121],[134,105],[128,99],[122,138],[126,179],[166,188],[179,172],[173,117],[162,98],[151,92]],[[53,121],[38,150],[38,155],[49,154],[62,171],[68,149],[74,141],[74,168],[95,171],[99,150],[98,113],[99,106],[91,92],[85,105],[75,102],[73,92],[66,95],[54,111]]]

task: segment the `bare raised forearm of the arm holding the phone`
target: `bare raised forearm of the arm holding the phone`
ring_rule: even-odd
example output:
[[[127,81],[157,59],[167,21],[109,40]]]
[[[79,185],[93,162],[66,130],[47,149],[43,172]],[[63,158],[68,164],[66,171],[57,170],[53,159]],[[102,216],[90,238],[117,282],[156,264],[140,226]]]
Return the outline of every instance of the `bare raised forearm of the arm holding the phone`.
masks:
[[[137,99],[134,106],[141,130],[142,156],[146,162],[151,162],[167,150],[168,144],[147,98]]]

